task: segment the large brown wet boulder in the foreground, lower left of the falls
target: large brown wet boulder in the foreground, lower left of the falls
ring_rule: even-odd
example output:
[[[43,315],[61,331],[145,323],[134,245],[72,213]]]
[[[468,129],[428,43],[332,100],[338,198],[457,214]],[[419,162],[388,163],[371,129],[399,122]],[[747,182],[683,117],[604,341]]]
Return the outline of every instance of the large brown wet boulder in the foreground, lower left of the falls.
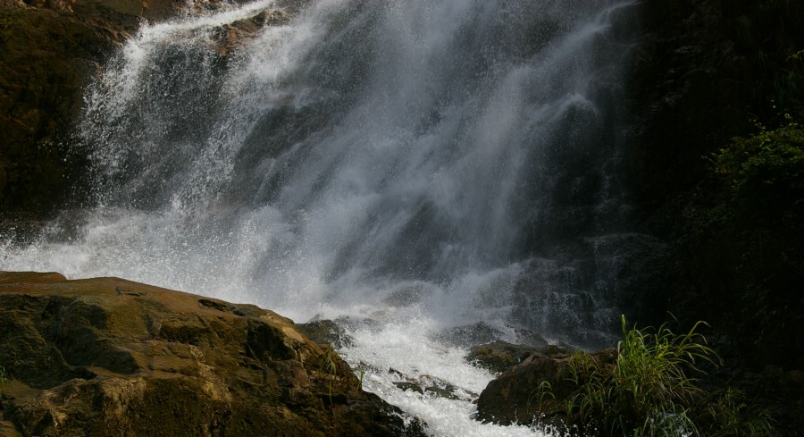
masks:
[[[289,319],[114,278],[0,273],[0,366],[21,435],[421,432]]]

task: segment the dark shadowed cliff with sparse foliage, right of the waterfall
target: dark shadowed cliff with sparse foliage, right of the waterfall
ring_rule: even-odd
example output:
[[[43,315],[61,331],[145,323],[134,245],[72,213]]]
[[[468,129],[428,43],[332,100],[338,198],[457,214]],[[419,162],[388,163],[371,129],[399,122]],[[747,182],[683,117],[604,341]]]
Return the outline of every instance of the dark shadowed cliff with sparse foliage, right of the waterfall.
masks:
[[[637,226],[666,243],[641,325],[710,324],[708,383],[763,399],[800,435],[804,392],[804,3],[641,4],[627,178]],[[798,387],[798,388],[796,388]]]

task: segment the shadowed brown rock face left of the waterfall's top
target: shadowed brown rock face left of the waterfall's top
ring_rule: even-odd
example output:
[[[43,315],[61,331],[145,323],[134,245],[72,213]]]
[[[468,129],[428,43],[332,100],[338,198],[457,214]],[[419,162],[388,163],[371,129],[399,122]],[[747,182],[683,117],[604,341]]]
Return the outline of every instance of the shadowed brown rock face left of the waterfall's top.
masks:
[[[50,214],[81,179],[86,157],[66,145],[82,88],[138,21],[103,12],[67,2],[0,4],[0,211],[6,214]]]

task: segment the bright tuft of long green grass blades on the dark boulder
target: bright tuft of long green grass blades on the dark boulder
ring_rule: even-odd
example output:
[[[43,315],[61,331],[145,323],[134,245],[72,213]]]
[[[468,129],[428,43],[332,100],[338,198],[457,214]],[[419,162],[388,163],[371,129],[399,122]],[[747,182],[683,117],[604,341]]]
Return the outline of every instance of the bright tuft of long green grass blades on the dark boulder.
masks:
[[[591,427],[605,435],[693,431],[687,411],[699,389],[686,373],[697,369],[697,361],[715,356],[695,327],[681,336],[664,326],[650,333],[628,330],[623,318],[624,340],[617,344],[615,366],[598,366],[587,354],[571,359],[570,377],[580,391],[569,416],[586,432]]]

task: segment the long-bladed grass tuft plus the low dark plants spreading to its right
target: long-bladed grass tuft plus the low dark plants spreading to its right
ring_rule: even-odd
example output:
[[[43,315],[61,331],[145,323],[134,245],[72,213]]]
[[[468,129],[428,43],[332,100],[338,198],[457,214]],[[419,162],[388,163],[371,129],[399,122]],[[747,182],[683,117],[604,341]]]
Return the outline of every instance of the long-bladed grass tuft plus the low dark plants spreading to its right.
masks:
[[[547,402],[546,414],[562,417],[571,434],[602,436],[759,436],[770,430],[764,413],[746,407],[736,391],[707,395],[700,366],[717,365],[695,324],[676,335],[665,325],[627,329],[617,345],[616,363],[606,365],[585,353],[570,358],[566,374],[576,391]],[[540,387],[540,399],[549,386]],[[555,429],[555,427],[553,427]]]

